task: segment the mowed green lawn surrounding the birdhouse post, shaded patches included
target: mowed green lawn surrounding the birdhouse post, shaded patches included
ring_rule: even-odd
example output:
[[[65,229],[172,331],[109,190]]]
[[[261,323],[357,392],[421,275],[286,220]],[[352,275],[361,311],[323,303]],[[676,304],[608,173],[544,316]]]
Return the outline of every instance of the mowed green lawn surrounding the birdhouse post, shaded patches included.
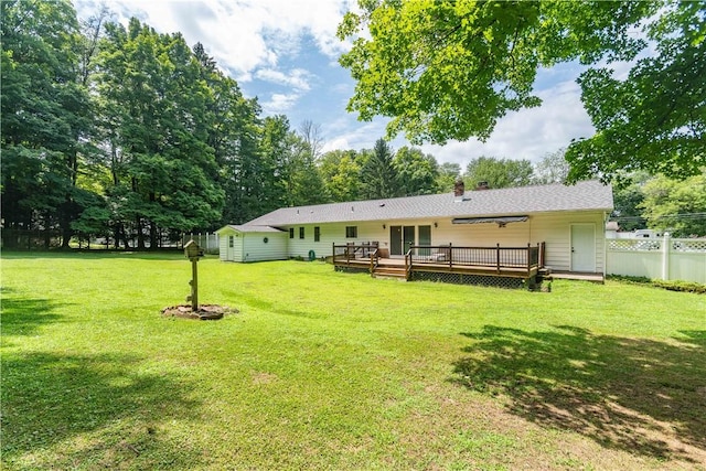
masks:
[[[4,254],[2,468],[703,469],[706,297]]]

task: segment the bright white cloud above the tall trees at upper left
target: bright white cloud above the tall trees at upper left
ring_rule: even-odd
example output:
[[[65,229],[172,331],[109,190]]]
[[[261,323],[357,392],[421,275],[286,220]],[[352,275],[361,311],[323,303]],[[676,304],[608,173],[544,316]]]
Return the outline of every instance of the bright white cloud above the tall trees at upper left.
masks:
[[[97,12],[95,0],[76,0],[79,17]],[[113,0],[117,20],[129,17],[159,32],[181,32],[190,45],[206,52],[234,75],[272,67],[285,54],[296,54],[306,33],[330,57],[345,49],[335,38],[346,0]],[[246,75],[247,76],[247,75]]]

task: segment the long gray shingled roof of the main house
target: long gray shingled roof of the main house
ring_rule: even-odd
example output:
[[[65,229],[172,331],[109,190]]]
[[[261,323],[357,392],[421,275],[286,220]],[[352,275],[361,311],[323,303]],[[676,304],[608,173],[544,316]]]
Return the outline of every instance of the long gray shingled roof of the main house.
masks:
[[[612,189],[597,181],[586,181],[576,185],[550,184],[467,191],[463,201],[460,202],[456,201],[452,193],[443,193],[282,207],[238,227],[432,217],[509,216],[554,211],[611,211],[612,208]]]

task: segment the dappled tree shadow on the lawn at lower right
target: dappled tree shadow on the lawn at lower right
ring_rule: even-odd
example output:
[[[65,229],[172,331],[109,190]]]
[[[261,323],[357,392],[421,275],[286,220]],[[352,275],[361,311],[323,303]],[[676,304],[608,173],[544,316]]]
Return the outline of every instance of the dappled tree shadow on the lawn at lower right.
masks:
[[[453,381],[511,398],[511,413],[607,448],[657,459],[706,459],[706,332],[659,342],[485,325]]]

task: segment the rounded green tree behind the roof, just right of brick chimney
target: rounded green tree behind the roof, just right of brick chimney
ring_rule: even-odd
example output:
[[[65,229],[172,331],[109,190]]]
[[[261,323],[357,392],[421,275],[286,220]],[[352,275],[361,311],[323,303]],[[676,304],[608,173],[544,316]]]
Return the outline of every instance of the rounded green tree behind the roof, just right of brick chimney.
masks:
[[[464,180],[473,185],[488,182],[491,189],[501,189],[528,185],[532,175],[532,162],[528,160],[479,157],[469,162]]]

